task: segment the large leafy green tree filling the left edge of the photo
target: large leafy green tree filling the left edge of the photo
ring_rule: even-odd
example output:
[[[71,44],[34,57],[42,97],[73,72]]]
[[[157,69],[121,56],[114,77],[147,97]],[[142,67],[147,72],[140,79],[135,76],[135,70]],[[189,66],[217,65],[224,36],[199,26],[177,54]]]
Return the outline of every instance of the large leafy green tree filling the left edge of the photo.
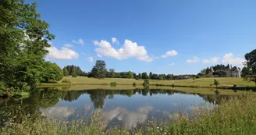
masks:
[[[44,55],[55,37],[36,8],[23,0],[0,1],[0,81],[15,90],[43,80]]]

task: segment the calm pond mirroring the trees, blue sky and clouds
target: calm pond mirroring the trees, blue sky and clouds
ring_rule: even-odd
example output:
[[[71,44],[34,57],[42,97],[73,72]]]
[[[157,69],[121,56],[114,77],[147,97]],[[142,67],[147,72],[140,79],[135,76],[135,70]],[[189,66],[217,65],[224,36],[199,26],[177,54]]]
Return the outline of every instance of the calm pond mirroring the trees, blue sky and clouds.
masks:
[[[0,115],[3,126],[8,123],[9,117],[18,113],[46,115],[55,119],[79,119],[91,110],[102,109],[108,125],[116,123],[131,129],[149,119],[171,119],[171,115],[176,112],[186,112],[189,115],[191,109],[197,105],[214,107],[218,105],[220,98],[229,96],[190,94],[162,87],[147,90],[73,90],[72,87],[45,87],[31,94],[29,98],[0,100]]]

